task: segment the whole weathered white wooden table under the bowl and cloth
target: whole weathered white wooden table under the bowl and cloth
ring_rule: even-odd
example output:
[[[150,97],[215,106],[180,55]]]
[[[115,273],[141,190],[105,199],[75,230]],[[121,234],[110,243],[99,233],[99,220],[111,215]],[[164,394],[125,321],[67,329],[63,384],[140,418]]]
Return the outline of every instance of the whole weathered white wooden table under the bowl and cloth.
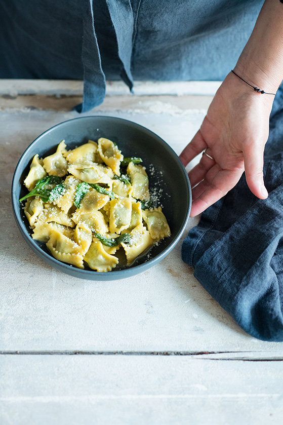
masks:
[[[130,95],[112,83],[88,114],[142,124],[179,154],[217,87],[138,83]],[[182,262],[182,241],[141,275],[91,282],[52,269],[22,239],[16,164],[36,136],[78,117],[81,93],[81,82],[0,83],[1,425],[282,423],[283,344],[234,323]]]

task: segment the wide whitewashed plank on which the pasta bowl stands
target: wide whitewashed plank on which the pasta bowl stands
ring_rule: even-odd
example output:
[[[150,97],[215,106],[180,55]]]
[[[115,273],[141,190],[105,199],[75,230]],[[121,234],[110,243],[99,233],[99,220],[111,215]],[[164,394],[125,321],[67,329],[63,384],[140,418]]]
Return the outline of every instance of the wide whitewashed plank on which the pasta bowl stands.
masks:
[[[96,113],[101,112],[98,109]],[[112,114],[152,129],[178,153],[204,116],[200,112],[182,117],[118,109]],[[281,344],[256,340],[238,328],[182,262],[181,242],[165,260],[142,275],[103,283],[64,275],[32,253],[12,216],[13,172],[21,153],[37,135],[74,117],[75,112],[0,114],[0,350],[281,352]],[[184,237],[196,223],[197,218],[189,221]]]

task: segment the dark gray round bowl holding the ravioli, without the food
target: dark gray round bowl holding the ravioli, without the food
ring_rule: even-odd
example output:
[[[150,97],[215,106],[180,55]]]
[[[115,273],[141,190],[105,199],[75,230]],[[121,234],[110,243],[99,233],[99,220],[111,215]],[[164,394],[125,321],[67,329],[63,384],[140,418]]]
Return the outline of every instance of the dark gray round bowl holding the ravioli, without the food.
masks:
[[[45,243],[31,238],[32,230],[19,203],[26,194],[23,181],[28,174],[35,153],[47,156],[56,150],[61,140],[67,148],[106,137],[117,143],[127,157],[141,157],[149,174],[150,190],[159,189],[159,203],[171,228],[172,236],[158,246],[153,246],[147,255],[137,258],[128,268],[101,273],[91,269],[79,269],[54,258]],[[154,172],[152,167],[154,166]],[[20,232],[31,249],[44,261],[61,272],[81,279],[116,280],[144,272],[163,259],[177,244],[184,231],[191,208],[191,189],[187,173],[174,150],[150,130],[131,121],[113,117],[82,117],[65,121],[37,137],[23,153],[12,182],[13,212]]]

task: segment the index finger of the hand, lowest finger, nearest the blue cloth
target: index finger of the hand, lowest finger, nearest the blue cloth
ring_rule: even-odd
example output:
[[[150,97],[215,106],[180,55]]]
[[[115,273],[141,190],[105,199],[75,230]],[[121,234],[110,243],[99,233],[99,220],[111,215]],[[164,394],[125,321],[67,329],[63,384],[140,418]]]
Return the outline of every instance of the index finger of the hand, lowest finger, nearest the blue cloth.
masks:
[[[205,180],[192,190],[191,217],[205,211],[221,199],[239,181],[242,170],[222,170],[215,164],[208,172]]]

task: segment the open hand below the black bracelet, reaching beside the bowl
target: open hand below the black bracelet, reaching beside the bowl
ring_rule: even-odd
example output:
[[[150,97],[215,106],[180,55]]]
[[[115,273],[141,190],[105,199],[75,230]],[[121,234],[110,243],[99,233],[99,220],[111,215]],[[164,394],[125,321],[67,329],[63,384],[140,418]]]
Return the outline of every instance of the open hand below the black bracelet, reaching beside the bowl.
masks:
[[[253,194],[260,199],[268,197],[263,181],[263,152],[273,100],[274,96],[246,87],[234,74],[227,75],[203,124],[180,155],[184,166],[204,149],[213,158],[203,154],[188,173],[191,217],[226,195],[244,170]]]

